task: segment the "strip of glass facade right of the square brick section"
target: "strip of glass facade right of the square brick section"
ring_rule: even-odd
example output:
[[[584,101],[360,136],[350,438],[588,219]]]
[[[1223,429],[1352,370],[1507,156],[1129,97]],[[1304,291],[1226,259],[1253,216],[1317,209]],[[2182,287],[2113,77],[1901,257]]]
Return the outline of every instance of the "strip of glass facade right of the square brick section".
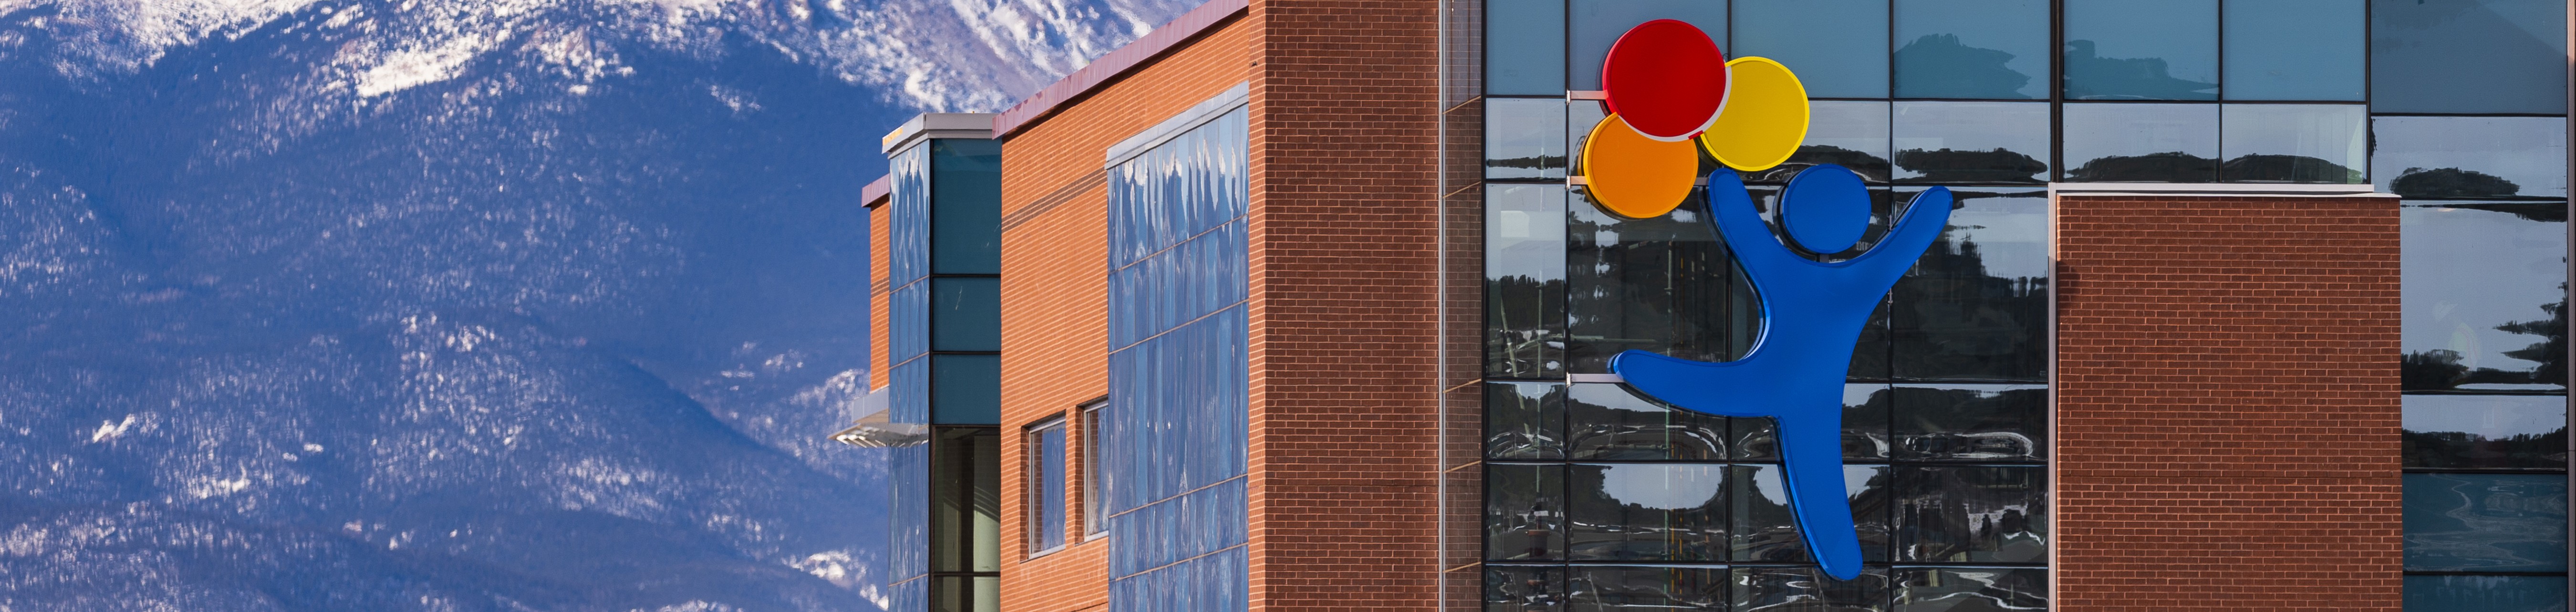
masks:
[[[2566,3],[2372,0],[2403,198],[2406,609],[2568,609]]]

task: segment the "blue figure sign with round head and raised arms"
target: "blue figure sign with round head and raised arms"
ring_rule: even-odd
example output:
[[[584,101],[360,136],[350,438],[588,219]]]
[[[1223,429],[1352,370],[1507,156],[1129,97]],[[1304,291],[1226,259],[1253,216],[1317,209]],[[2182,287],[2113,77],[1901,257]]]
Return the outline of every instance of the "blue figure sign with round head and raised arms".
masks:
[[[1664,404],[1723,417],[1780,422],[1788,501],[1816,566],[1834,579],[1860,576],[1860,532],[1842,486],[1842,381],[1852,342],[1896,278],[1950,224],[1950,190],[1914,195],[1904,219],[1868,252],[1819,262],[1790,252],[1754,213],[1734,170],[1708,175],[1708,224],[1762,298],[1762,332],[1731,363],[1698,363],[1628,350],[1610,373]],[[1852,170],[1816,165],[1780,190],[1780,224],[1808,252],[1844,252],[1870,226],[1870,193]]]

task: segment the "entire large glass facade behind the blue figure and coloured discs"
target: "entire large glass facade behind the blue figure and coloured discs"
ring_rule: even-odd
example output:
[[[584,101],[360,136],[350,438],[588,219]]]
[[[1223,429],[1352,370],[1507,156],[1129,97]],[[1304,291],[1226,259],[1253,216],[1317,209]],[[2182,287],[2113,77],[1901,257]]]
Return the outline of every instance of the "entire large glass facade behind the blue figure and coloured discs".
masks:
[[[2566,609],[2563,3],[1461,5],[1473,28],[1450,49],[1481,64],[1453,59],[1468,69],[1448,113],[1481,157],[1448,188],[1481,203],[1486,609],[2045,607],[2050,180],[2401,195],[2406,607]],[[1855,352],[1862,581],[1811,581],[1785,519],[1765,519],[1765,422],[1566,383],[1618,350],[1739,355],[1759,316],[1698,198],[1618,219],[1566,185],[1602,118],[1582,93],[1605,36],[1646,18],[1808,85],[1806,147],[1747,175],[1757,201],[1824,162],[1870,180],[1880,221],[1924,185],[1960,195]]]

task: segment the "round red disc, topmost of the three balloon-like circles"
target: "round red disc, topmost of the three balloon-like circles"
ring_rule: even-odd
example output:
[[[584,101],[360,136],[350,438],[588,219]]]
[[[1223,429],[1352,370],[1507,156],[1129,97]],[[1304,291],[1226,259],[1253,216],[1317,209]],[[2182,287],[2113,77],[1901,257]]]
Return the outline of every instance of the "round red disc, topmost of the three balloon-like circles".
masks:
[[[1726,51],[1698,26],[1646,21],[1610,44],[1602,59],[1610,113],[1659,141],[1690,139],[1726,103]]]

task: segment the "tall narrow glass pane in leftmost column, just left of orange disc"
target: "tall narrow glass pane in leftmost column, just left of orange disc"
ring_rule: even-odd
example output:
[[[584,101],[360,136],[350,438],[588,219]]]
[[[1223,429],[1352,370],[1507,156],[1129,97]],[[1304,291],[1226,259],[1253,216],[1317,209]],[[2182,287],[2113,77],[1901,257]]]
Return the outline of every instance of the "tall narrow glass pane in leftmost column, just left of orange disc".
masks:
[[[1566,375],[1566,188],[1484,185],[1484,373]]]

